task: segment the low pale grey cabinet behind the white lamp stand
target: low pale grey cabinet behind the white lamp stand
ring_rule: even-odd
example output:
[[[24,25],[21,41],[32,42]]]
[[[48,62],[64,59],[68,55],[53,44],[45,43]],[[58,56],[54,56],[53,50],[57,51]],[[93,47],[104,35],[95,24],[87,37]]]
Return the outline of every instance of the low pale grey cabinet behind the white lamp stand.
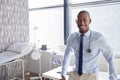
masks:
[[[42,73],[44,73],[50,69],[60,66],[59,64],[61,64],[62,58],[63,58],[62,53],[54,54],[54,52],[50,50],[46,50],[46,51],[37,50],[37,52],[39,52],[39,54],[41,55],[40,59],[38,60],[33,60],[31,58],[32,53],[27,55],[27,59],[26,59],[27,61],[26,70],[27,71],[35,72],[35,73],[40,73],[41,71]],[[56,61],[55,61],[55,58],[56,58]],[[57,59],[60,61],[58,61]]]

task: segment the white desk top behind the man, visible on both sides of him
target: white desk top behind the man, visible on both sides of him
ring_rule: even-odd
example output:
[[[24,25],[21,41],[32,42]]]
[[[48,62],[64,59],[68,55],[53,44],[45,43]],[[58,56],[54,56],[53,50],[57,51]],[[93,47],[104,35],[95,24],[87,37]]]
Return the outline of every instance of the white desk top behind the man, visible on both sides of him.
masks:
[[[69,67],[68,71],[71,71],[72,70],[72,67]],[[48,72],[45,72],[42,74],[42,77],[44,78],[49,78],[49,79],[53,79],[53,80],[59,80],[61,79],[61,73],[58,73],[58,72],[61,72],[61,67],[58,67],[58,68],[55,68],[55,69],[52,69]],[[99,79],[98,80],[109,80],[108,77],[108,72],[99,72],[98,74],[99,76]],[[68,76],[66,76],[67,80],[68,80]]]

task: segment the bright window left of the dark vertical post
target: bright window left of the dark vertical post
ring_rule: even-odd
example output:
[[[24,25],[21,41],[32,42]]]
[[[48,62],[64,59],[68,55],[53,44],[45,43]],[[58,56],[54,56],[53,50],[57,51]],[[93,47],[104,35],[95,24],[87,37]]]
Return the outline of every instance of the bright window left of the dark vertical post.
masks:
[[[34,6],[29,6],[30,42],[38,45],[39,41],[39,47],[44,44],[52,48],[64,44],[64,10],[62,6],[56,7],[58,3],[62,5],[63,0],[36,1],[31,2]]]

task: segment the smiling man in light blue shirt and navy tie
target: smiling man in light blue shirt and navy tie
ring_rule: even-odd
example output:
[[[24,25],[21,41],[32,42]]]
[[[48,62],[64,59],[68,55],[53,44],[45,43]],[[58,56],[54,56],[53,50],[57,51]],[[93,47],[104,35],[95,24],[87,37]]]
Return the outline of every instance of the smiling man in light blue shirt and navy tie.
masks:
[[[77,15],[76,23],[79,32],[74,32],[68,37],[61,80],[66,80],[65,75],[72,51],[75,54],[75,68],[70,73],[69,80],[98,80],[98,58],[100,52],[102,52],[109,64],[109,79],[117,80],[112,50],[102,34],[89,29],[89,24],[91,23],[90,14],[84,10],[80,11]]]

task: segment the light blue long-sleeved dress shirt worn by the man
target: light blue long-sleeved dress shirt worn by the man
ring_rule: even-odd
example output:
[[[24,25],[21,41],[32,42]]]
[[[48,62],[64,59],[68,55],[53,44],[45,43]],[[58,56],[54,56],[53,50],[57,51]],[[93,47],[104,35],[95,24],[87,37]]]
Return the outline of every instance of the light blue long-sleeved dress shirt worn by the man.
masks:
[[[75,54],[74,71],[78,71],[80,35],[81,33],[74,32],[68,37],[62,66],[62,76],[65,76],[67,73],[67,67],[69,66],[72,52]],[[91,53],[87,52],[89,48],[91,49]],[[101,52],[109,64],[109,79],[117,80],[117,74],[114,69],[114,56],[110,46],[107,44],[102,34],[91,30],[86,32],[83,37],[83,73],[99,72],[98,59]]]

